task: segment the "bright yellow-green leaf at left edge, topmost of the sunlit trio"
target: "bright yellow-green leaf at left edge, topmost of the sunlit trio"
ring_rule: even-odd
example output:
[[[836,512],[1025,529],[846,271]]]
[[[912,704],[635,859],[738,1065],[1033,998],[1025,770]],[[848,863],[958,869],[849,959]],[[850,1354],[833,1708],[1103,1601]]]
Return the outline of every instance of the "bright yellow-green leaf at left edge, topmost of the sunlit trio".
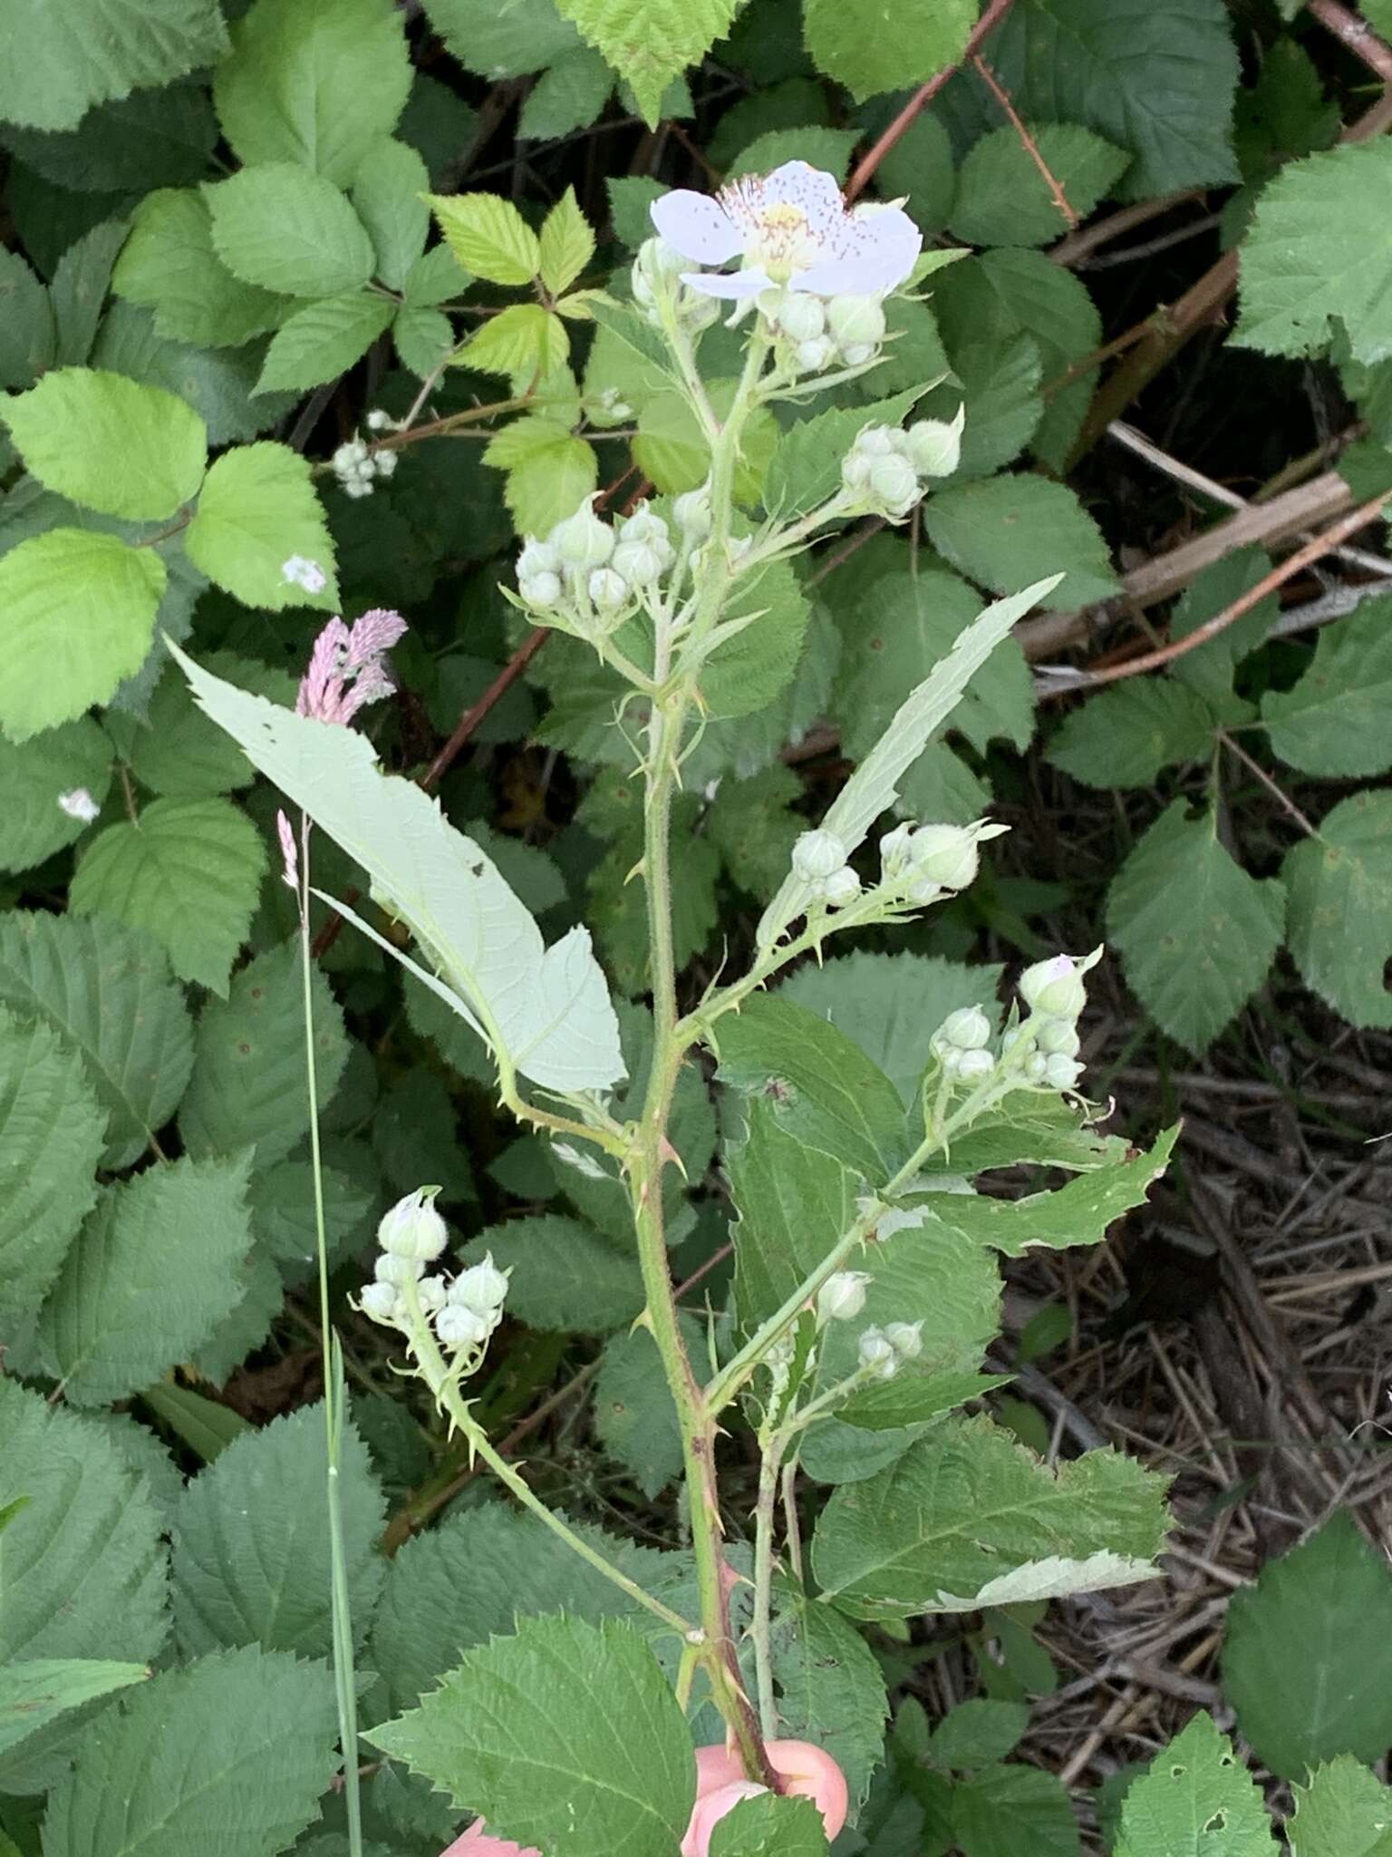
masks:
[[[97,368],[56,368],[4,416],[30,475],[130,522],[163,522],[197,496],[208,427],[186,401]]]

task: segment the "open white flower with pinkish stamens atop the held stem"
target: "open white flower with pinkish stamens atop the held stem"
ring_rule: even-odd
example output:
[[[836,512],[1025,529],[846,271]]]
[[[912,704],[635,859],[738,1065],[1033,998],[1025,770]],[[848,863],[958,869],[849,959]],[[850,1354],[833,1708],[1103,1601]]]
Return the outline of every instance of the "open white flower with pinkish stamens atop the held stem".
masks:
[[[831,175],[785,162],[720,193],[674,189],[651,204],[663,240],[694,264],[742,260],[733,273],[683,271],[709,297],[741,301],[774,284],[815,297],[878,295],[913,269],[922,234],[900,206],[846,208]]]

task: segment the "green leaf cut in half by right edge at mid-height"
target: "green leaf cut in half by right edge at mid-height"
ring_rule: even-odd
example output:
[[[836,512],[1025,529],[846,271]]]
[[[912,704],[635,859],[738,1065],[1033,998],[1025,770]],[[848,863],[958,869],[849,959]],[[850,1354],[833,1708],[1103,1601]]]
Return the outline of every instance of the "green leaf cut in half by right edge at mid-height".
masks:
[[[1353,1025],[1392,1025],[1392,795],[1355,793],[1281,869],[1286,941],[1301,977]]]

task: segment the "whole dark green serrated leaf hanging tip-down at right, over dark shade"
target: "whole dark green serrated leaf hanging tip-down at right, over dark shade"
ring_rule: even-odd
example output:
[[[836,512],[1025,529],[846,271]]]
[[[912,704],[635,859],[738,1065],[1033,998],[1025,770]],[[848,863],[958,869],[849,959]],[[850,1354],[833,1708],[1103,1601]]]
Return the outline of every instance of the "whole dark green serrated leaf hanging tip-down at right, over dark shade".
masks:
[[[1266,979],[1281,947],[1275,878],[1249,877],[1218,839],[1218,815],[1175,800],[1112,878],[1108,940],[1128,984],[1171,1038],[1206,1051]]]

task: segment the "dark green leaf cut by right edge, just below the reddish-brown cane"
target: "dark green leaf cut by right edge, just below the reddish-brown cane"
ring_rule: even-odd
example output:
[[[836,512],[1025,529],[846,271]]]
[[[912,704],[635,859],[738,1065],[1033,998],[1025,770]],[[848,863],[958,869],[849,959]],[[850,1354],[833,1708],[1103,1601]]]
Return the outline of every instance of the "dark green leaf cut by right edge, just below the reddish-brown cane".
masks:
[[[1307,774],[1383,774],[1392,767],[1392,600],[1364,600],[1320,631],[1314,661],[1288,691],[1268,691],[1262,722],[1282,761]]]

